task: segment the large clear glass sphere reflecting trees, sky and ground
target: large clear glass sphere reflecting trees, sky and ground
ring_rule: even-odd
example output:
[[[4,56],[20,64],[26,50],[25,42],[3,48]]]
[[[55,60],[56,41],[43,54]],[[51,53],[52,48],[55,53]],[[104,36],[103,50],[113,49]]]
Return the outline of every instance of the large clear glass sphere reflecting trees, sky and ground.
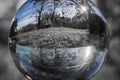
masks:
[[[9,47],[30,80],[88,80],[107,53],[106,20],[89,0],[28,0],[14,17]]]

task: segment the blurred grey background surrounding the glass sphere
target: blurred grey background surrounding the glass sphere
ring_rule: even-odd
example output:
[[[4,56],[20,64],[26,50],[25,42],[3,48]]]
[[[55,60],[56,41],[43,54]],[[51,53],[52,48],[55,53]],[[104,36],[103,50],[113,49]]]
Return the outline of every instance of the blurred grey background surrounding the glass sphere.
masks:
[[[120,80],[120,0],[93,0],[103,12],[110,32],[110,52],[92,80]],[[12,18],[25,0],[0,0],[0,80],[26,80],[17,70],[8,49]]]

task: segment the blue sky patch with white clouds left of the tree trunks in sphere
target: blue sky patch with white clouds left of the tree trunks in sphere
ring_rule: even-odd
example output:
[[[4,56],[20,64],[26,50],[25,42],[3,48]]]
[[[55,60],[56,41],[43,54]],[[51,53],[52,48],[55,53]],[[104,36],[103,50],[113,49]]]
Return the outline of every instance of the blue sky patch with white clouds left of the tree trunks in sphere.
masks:
[[[24,6],[19,9],[15,17],[18,19],[18,30],[28,24],[36,24],[36,16],[38,15],[36,7],[33,2],[26,2]]]

